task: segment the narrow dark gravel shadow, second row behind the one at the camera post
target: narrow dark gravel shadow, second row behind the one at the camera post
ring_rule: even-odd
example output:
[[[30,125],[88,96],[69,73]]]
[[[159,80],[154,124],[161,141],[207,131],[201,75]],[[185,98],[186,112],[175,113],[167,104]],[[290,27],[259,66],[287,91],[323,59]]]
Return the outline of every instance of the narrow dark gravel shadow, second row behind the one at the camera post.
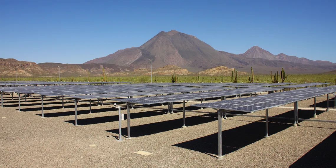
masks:
[[[83,104],[84,105],[84,104]],[[97,106],[97,105],[96,105]],[[77,105],[77,107],[79,107]],[[52,108],[52,107],[51,107]],[[73,107],[74,108],[74,107]],[[39,108],[41,110],[41,108]],[[50,110],[50,109],[49,109]],[[110,111],[117,111],[118,109],[115,108],[102,108],[102,109],[92,109],[92,113],[101,113],[101,112],[110,112]],[[89,114],[90,110],[77,110],[77,115],[81,114]],[[41,114],[36,114],[38,116],[42,116]],[[62,117],[62,116],[74,116],[75,111],[69,112],[55,112],[55,113],[44,113],[44,117]]]

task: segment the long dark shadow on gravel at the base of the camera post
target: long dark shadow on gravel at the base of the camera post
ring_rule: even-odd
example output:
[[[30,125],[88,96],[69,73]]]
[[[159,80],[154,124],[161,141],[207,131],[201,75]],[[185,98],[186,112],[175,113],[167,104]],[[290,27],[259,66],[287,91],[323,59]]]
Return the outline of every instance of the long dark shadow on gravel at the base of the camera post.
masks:
[[[173,114],[166,114],[166,115],[173,115]],[[212,115],[214,117],[208,117],[211,115],[201,115],[201,116],[192,116],[192,117],[186,117],[185,118],[185,125],[186,126],[194,126],[199,124],[204,124],[212,121],[216,121],[217,118],[215,117],[217,114]],[[131,117],[132,118],[132,117]],[[130,122],[132,125],[132,120]],[[144,125],[137,125],[137,126],[131,126],[131,137],[139,137],[144,135],[151,135],[156,134],[160,132],[165,132],[169,130],[174,130],[178,128],[182,128],[183,126],[183,119],[175,119],[175,120],[169,120],[169,121],[162,121],[162,122],[156,122],[156,123],[150,123],[150,124],[144,124]],[[108,132],[117,133],[119,134],[119,129],[112,129],[112,130],[106,130]],[[127,127],[122,128],[122,134],[127,135]]]

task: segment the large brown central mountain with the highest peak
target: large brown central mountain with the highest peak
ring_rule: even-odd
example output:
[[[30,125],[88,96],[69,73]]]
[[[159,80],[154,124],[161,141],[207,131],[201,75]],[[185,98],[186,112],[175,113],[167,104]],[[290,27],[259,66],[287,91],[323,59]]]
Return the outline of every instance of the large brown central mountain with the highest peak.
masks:
[[[176,65],[186,68],[208,69],[220,65],[233,66],[236,60],[223,54],[197,37],[177,32],[175,30],[154,36],[140,47],[119,50],[105,57],[85,62],[113,63],[120,66],[135,68],[150,68],[149,59],[153,67]]]

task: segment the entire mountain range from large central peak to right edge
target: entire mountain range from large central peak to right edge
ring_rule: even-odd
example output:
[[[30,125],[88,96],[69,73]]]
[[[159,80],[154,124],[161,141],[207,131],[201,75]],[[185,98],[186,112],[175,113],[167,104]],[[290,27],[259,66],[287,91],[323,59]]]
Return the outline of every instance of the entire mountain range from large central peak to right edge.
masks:
[[[200,72],[225,66],[249,72],[253,67],[256,73],[264,74],[281,68],[285,68],[286,72],[291,74],[323,73],[336,69],[336,64],[329,61],[301,61],[301,58],[296,60],[292,57],[284,57],[284,54],[274,55],[258,46],[253,46],[242,54],[217,51],[193,35],[172,30],[161,31],[140,47],[118,50],[84,64],[116,64],[141,69],[150,68],[151,59],[153,68],[175,65],[190,72]],[[304,62],[310,66],[303,64]]]

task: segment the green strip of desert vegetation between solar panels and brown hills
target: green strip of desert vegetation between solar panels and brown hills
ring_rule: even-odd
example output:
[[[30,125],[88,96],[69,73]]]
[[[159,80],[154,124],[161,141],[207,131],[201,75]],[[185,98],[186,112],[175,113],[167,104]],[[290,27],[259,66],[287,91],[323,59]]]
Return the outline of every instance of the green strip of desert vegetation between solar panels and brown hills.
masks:
[[[280,76],[280,75],[279,75]],[[102,77],[90,77],[90,82],[101,82]],[[238,75],[234,76],[202,76],[202,75],[173,75],[173,78],[177,79],[175,82],[177,83],[250,83],[249,75]],[[237,78],[237,79],[236,79]],[[251,77],[250,77],[251,78]],[[255,83],[273,83],[274,82],[274,75],[272,78],[270,75],[254,75],[254,82]],[[232,81],[234,79],[235,81]],[[1,77],[1,81],[15,81],[14,77]],[[105,80],[107,82],[134,82],[134,83],[150,83],[151,76],[149,75],[139,75],[139,76],[106,76]],[[17,81],[58,81],[58,76],[55,77],[17,77]],[[89,78],[87,77],[62,77],[61,81],[63,82],[88,82]],[[165,76],[153,76],[152,78],[153,83],[169,83],[172,82],[172,75],[165,75]],[[288,83],[310,83],[310,82],[329,82],[335,83],[336,76],[335,74],[306,74],[306,75],[287,75],[284,78],[283,82]],[[282,79],[279,81],[282,82]]]

